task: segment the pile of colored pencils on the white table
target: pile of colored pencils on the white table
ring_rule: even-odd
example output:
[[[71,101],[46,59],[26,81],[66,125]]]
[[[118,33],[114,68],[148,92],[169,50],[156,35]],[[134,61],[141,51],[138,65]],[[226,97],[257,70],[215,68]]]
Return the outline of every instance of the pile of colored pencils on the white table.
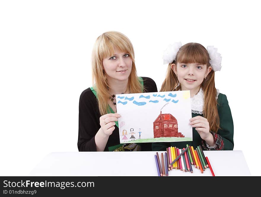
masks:
[[[209,159],[205,157],[201,146],[198,146],[196,150],[193,146],[189,145],[186,148],[168,147],[165,152],[165,159],[163,153],[161,153],[161,163],[159,154],[156,152],[155,162],[158,176],[168,176],[168,171],[172,169],[180,169],[184,172],[193,173],[193,165],[195,168],[200,169],[201,173],[209,168],[212,176],[215,176]]]

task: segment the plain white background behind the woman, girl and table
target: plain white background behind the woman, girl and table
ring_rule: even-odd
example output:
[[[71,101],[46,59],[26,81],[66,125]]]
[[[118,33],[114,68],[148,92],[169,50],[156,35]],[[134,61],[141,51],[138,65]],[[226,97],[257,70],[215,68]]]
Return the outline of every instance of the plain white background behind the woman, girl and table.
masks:
[[[218,48],[215,82],[231,108],[234,150],[260,176],[260,18],[251,0],[1,1],[0,175],[26,176],[48,153],[78,151],[79,96],[91,86],[93,44],[120,31],[132,41],[138,75],[158,90],[169,43]]]

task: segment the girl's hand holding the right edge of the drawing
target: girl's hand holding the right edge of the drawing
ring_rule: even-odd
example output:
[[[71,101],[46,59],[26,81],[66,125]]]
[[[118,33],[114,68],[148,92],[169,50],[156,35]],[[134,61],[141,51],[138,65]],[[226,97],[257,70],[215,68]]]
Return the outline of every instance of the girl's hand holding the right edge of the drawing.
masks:
[[[209,132],[209,121],[202,116],[191,118],[190,125],[195,127],[202,140],[206,140],[211,134]]]

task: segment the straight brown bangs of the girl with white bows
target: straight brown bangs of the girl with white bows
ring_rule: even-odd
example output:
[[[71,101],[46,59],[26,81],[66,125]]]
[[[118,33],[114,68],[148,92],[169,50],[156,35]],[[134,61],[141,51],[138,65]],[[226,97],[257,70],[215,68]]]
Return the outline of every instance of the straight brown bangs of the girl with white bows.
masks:
[[[179,63],[200,63],[209,65],[209,54],[205,47],[198,43],[187,43],[179,49],[177,55]]]

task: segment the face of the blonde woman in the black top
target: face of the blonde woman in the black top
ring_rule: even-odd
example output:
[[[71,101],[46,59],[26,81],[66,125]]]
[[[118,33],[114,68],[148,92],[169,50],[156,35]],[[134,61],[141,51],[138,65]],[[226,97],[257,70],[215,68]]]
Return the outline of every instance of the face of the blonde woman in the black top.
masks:
[[[130,76],[132,59],[128,53],[114,50],[113,56],[102,61],[107,81],[125,81]]]

